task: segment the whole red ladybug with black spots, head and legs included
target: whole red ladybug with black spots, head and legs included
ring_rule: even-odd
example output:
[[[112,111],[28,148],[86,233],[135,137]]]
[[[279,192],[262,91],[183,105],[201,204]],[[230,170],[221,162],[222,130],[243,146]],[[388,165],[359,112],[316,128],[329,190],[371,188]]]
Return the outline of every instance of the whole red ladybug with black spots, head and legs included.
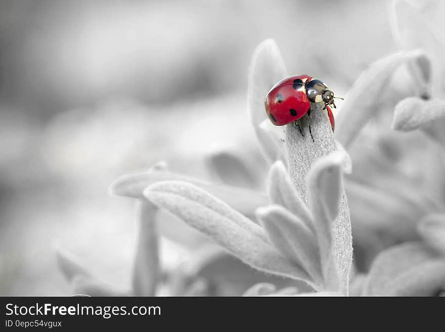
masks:
[[[287,77],[275,84],[268,92],[264,106],[273,124],[283,126],[293,122],[298,126],[302,135],[303,132],[297,120],[307,113],[309,116],[309,132],[312,137],[310,130],[310,103],[325,103],[323,109],[327,110],[331,128],[334,131],[334,116],[329,107],[332,105],[336,108],[334,98],[338,97],[334,97],[334,92],[329,90],[325,83],[303,74]],[[312,139],[314,140],[314,137]]]

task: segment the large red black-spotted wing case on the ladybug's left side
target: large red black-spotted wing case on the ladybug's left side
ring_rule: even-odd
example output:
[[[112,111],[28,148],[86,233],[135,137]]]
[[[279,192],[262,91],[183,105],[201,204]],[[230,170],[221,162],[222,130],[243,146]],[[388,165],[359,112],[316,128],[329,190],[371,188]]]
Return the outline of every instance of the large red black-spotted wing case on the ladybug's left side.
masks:
[[[266,113],[273,124],[283,126],[307,113],[310,101],[304,83],[311,79],[309,75],[296,75],[274,85],[264,101]]]

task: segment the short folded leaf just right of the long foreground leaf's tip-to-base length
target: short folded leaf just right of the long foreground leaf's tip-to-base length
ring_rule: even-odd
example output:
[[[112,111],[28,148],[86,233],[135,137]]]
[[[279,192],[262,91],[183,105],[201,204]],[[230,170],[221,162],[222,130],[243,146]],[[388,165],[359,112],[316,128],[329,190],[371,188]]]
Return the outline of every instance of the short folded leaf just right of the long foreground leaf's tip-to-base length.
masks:
[[[305,222],[278,205],[258,208],[256,216],[275,247],[323,287],[317,238]]]

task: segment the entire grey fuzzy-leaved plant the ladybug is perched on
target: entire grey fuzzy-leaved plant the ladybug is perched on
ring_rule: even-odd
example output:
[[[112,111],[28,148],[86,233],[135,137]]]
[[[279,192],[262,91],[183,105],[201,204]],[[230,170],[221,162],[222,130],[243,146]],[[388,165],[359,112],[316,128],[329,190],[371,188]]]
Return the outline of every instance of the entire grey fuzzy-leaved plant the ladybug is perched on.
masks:
[[[396,1],[393,8],[397,31],[418,33],[414,28],[415,31],[405,31],[409,24],[403,18],[409,17],[409,5]],[[406,16],[398,13],[399,8]],[[121,176],[113,182],[111,192],[141,201],[132,289],[116,291],[60,252],[60,266],[73,282],[74,292],[148,296],[157,294],[161,284],[167,284],[176,290],[174,295],[212,294],[209,280],[214,281],[215,275],[224,279],[224,264],[233,262],[225,260],[227,256],[191,231],[193,228],[243,262],[237,263],[242,271],[237,277],[248,276],[240,290],[248,289],[246,296],[443,294],[442,197],[416,193],[420,196],[417,199],[407,195],[407,176],[395,176],[402,162],[400,166],[382,158],[379,163],[364,165],[354,159],[353,143],[357,147],[364,139],[376,141],[372,135],[366,136],[367,132],[378,136],[375,123],[382,123],[376,118],[394,107],[394,129],[420,129],[445,148],[441,130],[445,125],[445,104],[437,94],[440,88],[434,85],[440,80],[431,78],[433,72],[441,70],[435,71],[439,62],[431,60],[436,50],[420,46],[422,51],[411,51],[412,45],[407,45],[408,50],[378,60],[360,75],[336,116],[335,137],[322,107],[313,105],[313,141],[309,138],[307,117],[301,123],[304,135],[292,124],[285,127],[283,134],[266,119],[264,94],[288,73],[275,42],[262,42],[250,67],[248,110],[268,163],[268,174],[262,177],[267,178],[265,193],[255,180],[256,165],[231,153],[215,154],[209,159],[225,184],[171,173],[163,164]],[[393,79],[400,67],[407,69],[402,89]],[[394,135],[400,134],[391,133],[390,137]],[[383,144],[379,151],[389,149],[386,152],[390,158],[404,151],[402,145],[380,138]],[[347,175],[351,172],[351,159],[354,170],[357,164],[363,167],[363,177]],[[437,171],[443,172],[440,166]],[[360,174],[360,170],[356,173]],[[386,181],[381,183],[386,188],[372,183],[379,178]],[[199,255],[195,252],[201,261],[182,274],[175,271],[176,278],[168,273],[166,276],[158,261],[158,228],[162,229],[162,224],[171,222],[171,218],[176,218],[174,222],[178,218],[184,221],[187,227],[178,227],[183,227],[189,240],[201,244]],[[162,231],[161,234],[168,236]],[[215,269],[218,264],[222,268]],[[261,272],[252,273],[251,268]],[[178,284],[181,287],[176,287]]]

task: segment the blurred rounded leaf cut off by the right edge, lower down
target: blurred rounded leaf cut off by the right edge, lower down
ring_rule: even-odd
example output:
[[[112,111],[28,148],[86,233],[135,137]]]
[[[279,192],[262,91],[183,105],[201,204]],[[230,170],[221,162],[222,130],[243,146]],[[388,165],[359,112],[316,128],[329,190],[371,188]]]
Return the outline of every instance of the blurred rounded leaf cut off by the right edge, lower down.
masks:
[[[428,246],[445,255],[445,214],[427,215],[417,229]]]

